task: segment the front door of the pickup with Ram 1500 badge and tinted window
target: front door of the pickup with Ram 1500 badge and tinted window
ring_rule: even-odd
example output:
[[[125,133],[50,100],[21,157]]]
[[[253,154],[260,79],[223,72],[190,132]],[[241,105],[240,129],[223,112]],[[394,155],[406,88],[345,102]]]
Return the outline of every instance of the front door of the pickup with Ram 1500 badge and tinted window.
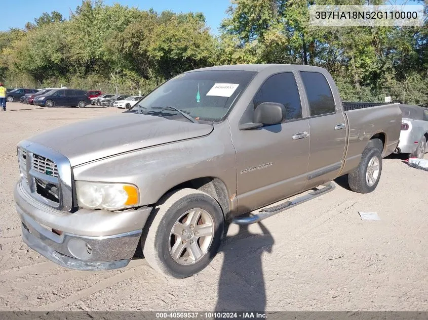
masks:
[[[281,124],[231,130],[237,151],[239,213],[299,193],[306,184],[309,124],[303,119],[293,73],[270,76],[254,97],[254,108],[262,102],[282,103],[286,117]]]

